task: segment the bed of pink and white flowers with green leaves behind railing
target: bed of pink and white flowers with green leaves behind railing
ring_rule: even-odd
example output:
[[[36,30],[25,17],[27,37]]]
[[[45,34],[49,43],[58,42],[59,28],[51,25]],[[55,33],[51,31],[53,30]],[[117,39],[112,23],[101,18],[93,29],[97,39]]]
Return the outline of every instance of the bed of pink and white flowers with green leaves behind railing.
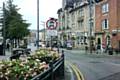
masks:
[[[35,80],[36,76],[49,72],[52,69],[50,63],[60,58],[56,51],[46,49],[38,50],[24,60],[1,61],[0,80]]]

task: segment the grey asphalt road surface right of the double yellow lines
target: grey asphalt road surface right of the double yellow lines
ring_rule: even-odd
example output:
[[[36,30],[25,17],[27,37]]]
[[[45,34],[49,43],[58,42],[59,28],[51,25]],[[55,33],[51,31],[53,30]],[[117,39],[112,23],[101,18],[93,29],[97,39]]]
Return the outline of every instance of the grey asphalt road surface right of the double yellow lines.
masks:
[[[80,70],[84,80],[120,80],[120,56],[65,50],[65,60]]]

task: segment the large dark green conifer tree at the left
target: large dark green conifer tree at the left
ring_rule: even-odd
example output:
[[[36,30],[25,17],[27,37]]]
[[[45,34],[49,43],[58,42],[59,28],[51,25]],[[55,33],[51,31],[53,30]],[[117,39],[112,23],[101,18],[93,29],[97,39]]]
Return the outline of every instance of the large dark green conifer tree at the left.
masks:
[[[18,42],[29,34],[29,23],[22,19],[22,15],[18,13],[20,8],[13,4],[12,0],[8,0],[5,8],[5,32],[6,39]],[[12,42],[13,42],[12,41]]]

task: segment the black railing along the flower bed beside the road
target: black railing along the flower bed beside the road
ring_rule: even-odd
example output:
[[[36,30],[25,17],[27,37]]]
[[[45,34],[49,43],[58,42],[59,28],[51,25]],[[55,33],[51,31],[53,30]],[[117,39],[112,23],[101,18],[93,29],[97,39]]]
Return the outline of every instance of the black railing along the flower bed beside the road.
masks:
[[[32,80],[56,80],[56,78],[64,78],[64,54],[62,54],[59,60],[51,62],[49,65],[50,67],[45,72],[35,76]]]

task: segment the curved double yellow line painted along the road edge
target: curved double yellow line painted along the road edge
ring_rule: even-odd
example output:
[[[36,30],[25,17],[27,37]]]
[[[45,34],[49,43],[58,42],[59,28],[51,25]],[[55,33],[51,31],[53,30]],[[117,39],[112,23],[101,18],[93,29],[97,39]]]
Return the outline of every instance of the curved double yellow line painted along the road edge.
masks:
[[[74,64],[69,63],[69,62],[67,62],[67,63],[71,66],[72,70],[74,71],[74,73],[77,77],[77,80],[84,80],[83,74],[80,72],[78,67]]]

